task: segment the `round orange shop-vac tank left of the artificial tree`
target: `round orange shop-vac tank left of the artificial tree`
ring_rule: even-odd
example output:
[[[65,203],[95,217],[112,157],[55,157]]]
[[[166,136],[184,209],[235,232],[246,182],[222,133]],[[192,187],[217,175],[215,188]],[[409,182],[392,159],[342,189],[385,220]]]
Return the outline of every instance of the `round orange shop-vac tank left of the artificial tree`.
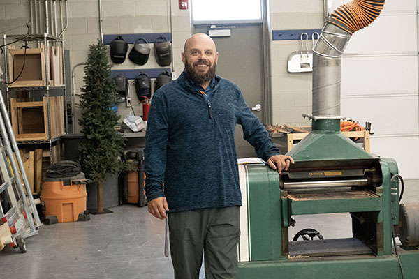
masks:
[[[84,174],[70,178],[45,179],[41,192],[45,216],[57,216],[59,223],[77,221],[78,215],[86,210],[86,185],[80,183],[83,179]]]

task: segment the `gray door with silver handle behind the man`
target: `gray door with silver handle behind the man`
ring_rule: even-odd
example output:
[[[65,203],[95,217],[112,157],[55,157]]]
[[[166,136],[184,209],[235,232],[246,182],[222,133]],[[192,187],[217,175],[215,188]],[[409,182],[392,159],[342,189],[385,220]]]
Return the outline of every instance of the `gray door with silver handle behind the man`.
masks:
[[[210,25],[195,25],[193,33],[206,33]],[[249,107],[259,107],[253,113],[264,123],[263,110],[263,30],[262,24],[223,24],[230,36],[212,39],[219,52],[216,74],[237,84]],[[212,29],[213,30],[213,29]],[[237,158],[255,157],[253,146],[243,140],[242,126],[235,130]]]

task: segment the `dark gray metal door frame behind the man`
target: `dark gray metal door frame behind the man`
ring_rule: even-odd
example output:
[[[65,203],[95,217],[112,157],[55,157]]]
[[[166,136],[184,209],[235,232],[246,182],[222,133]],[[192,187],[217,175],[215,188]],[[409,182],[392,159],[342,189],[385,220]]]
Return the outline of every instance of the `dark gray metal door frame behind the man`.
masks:
[[[260,25],[260,28],[262,29],[262,41],[260,42],[262,45],[260,45],[260,50],[262,50],[262,53],[260,54],[260,60],[262,62],[262,67],[260,69],[261,71],[261,84],[262,84],[262,94],[261,94],[261,103],[263,106],[263,121],[264,124],[269,125],[272,124],[272,93],[271,93],[271,78],[270,78],[270,47],[269,47],[269,25],[267,22],[268,18],[268,9],[267,9],[267,0],[262,0],[262,20],[214,20],[214,21],[197,21],[193,20],[191,18],[191,31],[192,34],[195,33],[195,27],[196,26],[205,26],[205,25],[223,25],[223,24],[237,24],[237,25],[245,25],[245,24],[251,24],[251,25]],[[191,10],[193,8],[193,5],[191,3]],[[192,13],[191,13],[192,17]]]

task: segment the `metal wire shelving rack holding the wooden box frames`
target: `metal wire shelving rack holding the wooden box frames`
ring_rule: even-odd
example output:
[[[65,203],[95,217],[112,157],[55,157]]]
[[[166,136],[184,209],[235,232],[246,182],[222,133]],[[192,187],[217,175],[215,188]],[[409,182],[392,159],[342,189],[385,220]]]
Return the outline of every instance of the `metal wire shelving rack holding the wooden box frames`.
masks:
[[[47,99],[47,135],[48,140],[23,140],[20,141],[20,144],[43,144],[47,143],[49,144],[49,150],[50,150],[50,162],[52,163],[52,143],[59,140],[59,138],[52,138],[51,133],[51,107],[50,107],[50,90],[52,89],[59,89],[62,90],[62,95],[64,96],[64,132],[67,133],[68,131],[68,119],[67,119],[67,110],[66,110],[66,104],[67,104],[67,93],[66,93],[66,64],[65,64],[65,58],[64,58],[64,40],[62,38],[52,36],[47,33],[42,34],[18,34],[18,35],[6,35],[3,34],[3,44],[6,45],[8,43],[8,40],[15,40],[15,42],[19,41],[27,41],[27,43],[43,43],[43,59],[44,61],[41,61],[41,63],[44,63],[43,70],[45,70],[45,73],[43,73],[45,77],[45,86],[19,86],[19,87],[10,87],[9,83],[11,82],[11,78],[9,75],[9,59],[8,59],[8,47],[5,47],[4,54],[4,61],[5,61],[5,80],[6,80],[6,101],[7,101],[7,110],[8,114],[10,115],[10,91],[45,91],[46,99]],[[61,86],[51,86],[50,84],[50,75],[52,74],[52,70],[49,69],[50,67],[50,61],[48,59],[49,54],[47,52],[50,51],[50,43],[54,43],[54,45],[61,45],[61,63],[62,63],[62,81],[63,85]],[[62,113],[62,112],[60,112]]]

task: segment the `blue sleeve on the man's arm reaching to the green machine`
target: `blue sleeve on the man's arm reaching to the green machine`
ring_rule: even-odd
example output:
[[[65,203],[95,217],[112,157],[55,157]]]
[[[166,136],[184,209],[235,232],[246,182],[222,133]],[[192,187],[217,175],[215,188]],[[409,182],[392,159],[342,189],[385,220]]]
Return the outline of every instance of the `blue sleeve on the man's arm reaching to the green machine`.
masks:
[[[258,157],[266,162],[271,156],[281,154],[279,149],[270,141],[269,133],[267,133],[263,124],[260,123],[258,117],[247,106],[241,92],[239,107],[240,117],[238,123],[242,125],[244,140],[247,140],[255,148]]]

